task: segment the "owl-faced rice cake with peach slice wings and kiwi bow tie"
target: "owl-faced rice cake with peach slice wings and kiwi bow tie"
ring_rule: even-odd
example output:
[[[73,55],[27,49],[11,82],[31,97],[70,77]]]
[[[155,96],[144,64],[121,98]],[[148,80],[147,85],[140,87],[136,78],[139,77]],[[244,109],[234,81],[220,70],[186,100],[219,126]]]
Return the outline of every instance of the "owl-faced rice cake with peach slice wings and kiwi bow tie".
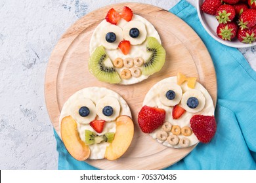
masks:
[[[59,124],[66,149],[79,161],[120,158],[134,133],[131,110],[123,97],[100,87],[74,93],[62,107]]]

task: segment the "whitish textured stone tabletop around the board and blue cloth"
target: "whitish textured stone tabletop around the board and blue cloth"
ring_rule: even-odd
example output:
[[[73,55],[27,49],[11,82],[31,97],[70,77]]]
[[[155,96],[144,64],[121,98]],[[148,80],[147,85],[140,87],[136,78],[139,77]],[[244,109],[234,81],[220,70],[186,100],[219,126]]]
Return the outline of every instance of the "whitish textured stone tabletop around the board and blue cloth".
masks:
[[[120,2],[125,1],[0,1],[0,169],[57,169],[56,141],[44,99],[47,62],[76,20]],[[130,2],[169,10],[179,0]],[[240,51],[256,70],[255,46]]]

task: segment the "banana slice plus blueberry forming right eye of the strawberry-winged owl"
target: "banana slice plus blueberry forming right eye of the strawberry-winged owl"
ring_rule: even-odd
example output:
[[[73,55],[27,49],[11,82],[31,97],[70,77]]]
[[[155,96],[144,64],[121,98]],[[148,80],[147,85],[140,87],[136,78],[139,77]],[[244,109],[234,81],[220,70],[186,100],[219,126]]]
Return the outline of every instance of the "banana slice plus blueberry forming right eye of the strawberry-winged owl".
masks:
[[[191,89],[183,94],[181,105],[186,111],[196,113],[203,109],[205,97],[200,90]]]

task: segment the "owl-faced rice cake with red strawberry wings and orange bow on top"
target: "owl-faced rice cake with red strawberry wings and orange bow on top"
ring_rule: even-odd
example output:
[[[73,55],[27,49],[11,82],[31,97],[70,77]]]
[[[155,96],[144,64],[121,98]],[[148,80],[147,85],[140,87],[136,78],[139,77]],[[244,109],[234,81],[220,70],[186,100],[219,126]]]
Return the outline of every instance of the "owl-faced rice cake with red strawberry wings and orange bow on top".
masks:
[[[170,148],[208,143],[216,132],[215,107],[207,90],[181,73],[156,83],[138,114],[139,127]]]

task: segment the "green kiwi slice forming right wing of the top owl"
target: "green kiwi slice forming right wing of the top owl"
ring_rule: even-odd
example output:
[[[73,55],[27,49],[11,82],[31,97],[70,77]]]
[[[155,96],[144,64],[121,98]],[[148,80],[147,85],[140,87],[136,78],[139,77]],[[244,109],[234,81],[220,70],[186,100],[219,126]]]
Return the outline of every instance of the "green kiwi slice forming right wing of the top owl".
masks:
[[[146,51],[152,52],[142,67],[142,75],[152,75],[161,70],[165,63],[165,49],[154,37],[148,37]]]

